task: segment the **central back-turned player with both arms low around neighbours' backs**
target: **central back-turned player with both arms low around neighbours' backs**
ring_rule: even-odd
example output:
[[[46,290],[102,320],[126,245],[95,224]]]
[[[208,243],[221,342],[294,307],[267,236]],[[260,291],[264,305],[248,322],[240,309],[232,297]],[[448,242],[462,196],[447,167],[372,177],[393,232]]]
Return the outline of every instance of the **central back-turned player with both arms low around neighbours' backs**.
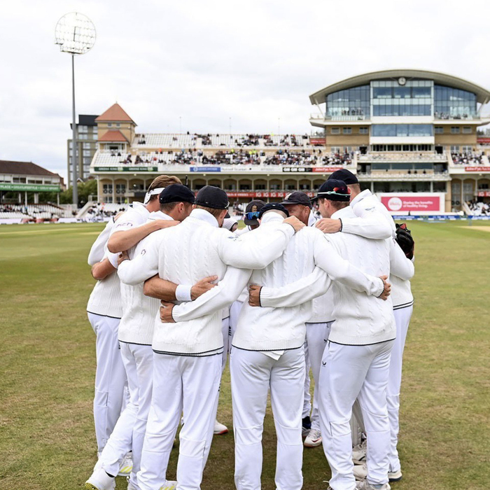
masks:
[[[281,204],[260,210],[260,228],[242,238],[261,243],[281,226],[288,211]],[[316,263],[332,276],[342,278],[374,295],[384,293],[384,281],[366,276],[342,260],[314,228],[303,228],[291,239],[283,255],[264,269],[229,267],[223,281],[192,304],[169,305],[164,318],[189,321],[196,314],[219,311],[236,299],[250,280],[268,286],[284,286],[310,274]],[[330,279],[323,273],[324,292]],[[230,356],[235,430],[235,484],[237,489],[260,489],[262,424],[271,392],[278,438],[276,486],[302,487],[301,414],[304,386],[304,322],[311,316],[311,301],[294,307],[252,308],[244,304],[233,337]]]

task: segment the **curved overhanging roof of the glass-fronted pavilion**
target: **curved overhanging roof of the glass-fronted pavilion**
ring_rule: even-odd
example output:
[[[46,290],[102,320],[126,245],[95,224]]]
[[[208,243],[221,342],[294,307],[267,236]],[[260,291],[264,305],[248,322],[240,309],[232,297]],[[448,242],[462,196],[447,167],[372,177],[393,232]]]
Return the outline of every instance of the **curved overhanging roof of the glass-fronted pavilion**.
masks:
[[[311,104],[324,104],[325,96],[333,92],[358,87],[359,85],[367,85],[371,80],[379,80],[381,78],[400,78],[400,76],[404,76],[407,78],[407,80],[410,78],[425,78],[426,80],[434,80],[434,83],[437,83],[437,85],[445,85],[447,87],[454,87],[460,90],[473,92],[476,94],[477,102],[480,104],[486,104],[490,101],[489,90],[486,90],[479,85],[475,85],[475,83],[468,82],[468,80],[463,80],[463,78],[447,75],[447,73],[440,73],[438,71],[409,69],[372,71],[370,73],[363,73],[362,75],[346,78],[345,80],[334,83],[333,85],[328,85],[328,87],[311,94],[309,96],[309,100]]]

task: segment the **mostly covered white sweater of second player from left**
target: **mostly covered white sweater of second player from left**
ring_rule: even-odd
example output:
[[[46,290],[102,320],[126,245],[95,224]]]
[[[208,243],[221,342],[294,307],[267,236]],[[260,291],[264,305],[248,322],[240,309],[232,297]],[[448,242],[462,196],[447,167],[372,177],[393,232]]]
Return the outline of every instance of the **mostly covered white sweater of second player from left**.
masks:
[[[162,211],[155,211],[148,215],[146,223],[155,220],[172,220]],[[132,254],[139,255],[145,249],[148,235],[134,247]],[[153,328],[155,316],[160,308],[160,300],[146,296],[143,292],[144,283],[134,286],[122,284],[121,295],[123,297],[124,311],[119,324],[119,340],[128,344],[151,345],[153,340]]]

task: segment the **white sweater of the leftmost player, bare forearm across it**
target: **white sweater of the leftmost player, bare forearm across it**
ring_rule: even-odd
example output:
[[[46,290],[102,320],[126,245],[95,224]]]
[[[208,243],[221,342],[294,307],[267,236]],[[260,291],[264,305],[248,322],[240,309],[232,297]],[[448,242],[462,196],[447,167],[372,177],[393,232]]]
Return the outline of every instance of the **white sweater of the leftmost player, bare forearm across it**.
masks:
[[[114,221],[109,220],[106,228],[95,239],[88,255],[89,265],[102,262],[104,258],[113,258],[113,254],[107,249],[107,241]],[[113,260],[111,260],[111,263]],[[111,318],[121,318],[123,316],[123,302],[121,301],[121,287],[116,271],[104,277],[95,284],[88,299],[87,311],[100,316],[111,316]]]

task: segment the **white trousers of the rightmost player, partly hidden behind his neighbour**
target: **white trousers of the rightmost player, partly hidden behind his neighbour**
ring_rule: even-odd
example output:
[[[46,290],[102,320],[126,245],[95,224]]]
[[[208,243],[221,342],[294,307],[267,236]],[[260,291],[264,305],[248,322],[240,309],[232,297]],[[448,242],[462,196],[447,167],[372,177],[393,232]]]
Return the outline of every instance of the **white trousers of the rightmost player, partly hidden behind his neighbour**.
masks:
[[[400,413],[400,386],[402,384],[402,358],[407,339],[408,325],[412,317],[413,305],[407,308],[394,309],[396,323],[396,339],[391,351],[390,371],[388,375],[388,418],[390,421],[390,471],[400,470],[400,458],[398,458],[398,430]]]

